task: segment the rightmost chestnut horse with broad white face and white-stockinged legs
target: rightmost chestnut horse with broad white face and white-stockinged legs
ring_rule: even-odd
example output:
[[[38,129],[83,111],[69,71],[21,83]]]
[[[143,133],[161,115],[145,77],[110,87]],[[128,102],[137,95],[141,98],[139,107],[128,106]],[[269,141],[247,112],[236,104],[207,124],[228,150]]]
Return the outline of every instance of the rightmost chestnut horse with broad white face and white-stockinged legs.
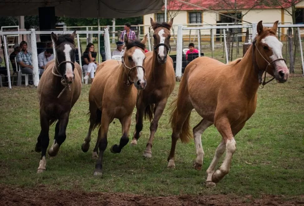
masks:
[[[175,167],[174,152],[178,138],[182,142],[192,138],[189,123],[191,110],[195,108],[203,119],[193,128],[197,156],[193,167],[202,169],[204,151],[201,135],[214,124],[222,135],[222,142],[207,169],[206,186],[215,186],[228,174],[236,150],[234,136],[255,112],[263,73],[269,73],[280,83],[286,82],[289,76],[282,57],[282,43],[275,36],[277,25],[278,21],[267,29],[260,21],[258,34],[242,59],[225,65],[208,57],[199,57],[186,66],[178,97],[170,105],[173,107],[170,114],[172,142],[168,167]],[[266,83],[264,79],[263,85]],[[223,164],[215,171],[225,150]]]

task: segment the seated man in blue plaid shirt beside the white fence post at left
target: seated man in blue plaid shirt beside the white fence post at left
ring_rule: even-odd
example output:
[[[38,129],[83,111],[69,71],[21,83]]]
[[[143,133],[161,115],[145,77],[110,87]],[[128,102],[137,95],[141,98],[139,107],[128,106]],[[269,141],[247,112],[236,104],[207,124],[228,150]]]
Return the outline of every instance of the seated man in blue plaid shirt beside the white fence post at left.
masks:
[[[25,41],[20,43],[21,51],[17,55],[17,62],[20,65],[21,73],[29,74],[29,84],[33,84],[33,63],[32,53],[28,52],[28,44]]]

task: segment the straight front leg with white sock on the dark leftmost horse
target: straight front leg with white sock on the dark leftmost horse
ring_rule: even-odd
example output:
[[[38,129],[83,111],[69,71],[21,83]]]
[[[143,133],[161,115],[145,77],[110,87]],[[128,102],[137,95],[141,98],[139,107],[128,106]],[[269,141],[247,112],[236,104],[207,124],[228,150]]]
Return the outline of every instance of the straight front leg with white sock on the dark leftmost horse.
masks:
[[[40,110],[40,126],[41,126],[41,131],[40,131],[40,135],[38,137],[38,140],[40,139],[41,158],[40,158],[40,162],[39,162],[39,167],[37,169],[37,173],[41,173],[41,172],[44,172],[46,170],[45,154],[46,154],[46,150],[49,146],[49,142],[50,142],[50,138],[49,138],[49,129],[50,129],[49,120],[48,120],[47,115],[45,114],[45,112],[43,112],[41,110]]]

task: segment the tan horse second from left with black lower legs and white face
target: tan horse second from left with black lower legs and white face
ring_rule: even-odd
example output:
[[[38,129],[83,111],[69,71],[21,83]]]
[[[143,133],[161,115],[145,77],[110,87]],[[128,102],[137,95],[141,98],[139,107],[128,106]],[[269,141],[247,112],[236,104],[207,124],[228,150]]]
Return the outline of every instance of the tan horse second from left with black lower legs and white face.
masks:
[[[119,145],[113,145],[110,151],[112,153],[121,152],[129,141],[128,135],[137,90],[144,89],[147,84],[144,70],[146,40],[147,35],[140,42],[139,40],[128,40],[128,36],[125,34],[126,50],[122,62],[107,60],[97,66],[96,77],[89,92],[90,127],[84,143],[81,145],[82,151],[87,152],[90,147],[92,130],[99,127],[92,155],[92,157],[97,157],[99,148],[100,154],[94,170],[95,176],[102,176],[102,157],[107,148],[109,124],[114,118],[119,119],[121,123],[122,137]],[[132,85],[133,83],[135,87]]]

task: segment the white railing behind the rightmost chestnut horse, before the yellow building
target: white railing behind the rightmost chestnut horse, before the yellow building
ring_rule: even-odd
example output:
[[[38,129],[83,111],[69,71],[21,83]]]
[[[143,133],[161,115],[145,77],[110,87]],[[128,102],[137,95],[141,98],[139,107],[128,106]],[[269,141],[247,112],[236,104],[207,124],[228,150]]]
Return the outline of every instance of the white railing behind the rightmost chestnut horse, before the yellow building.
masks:
[[[272,24],[263,24],[265,27],[272,27]],[[302,42],[301,42],[301,35],[300,35],[300,28],[303,28],[304,24],[278,24],[278,29],[280,28],[297,28],[298,29],[298,38],[300,42],[300,50],[301,50],[301,61],[302,61],[302,71],[304,73],[304,60],[303,60],[303,49],[302,49]],[[251,33],[251,40],[253,40],[254,36],[257,33],[257,23],[252,24],[242,24],[242,25],[226,25],[226,26],[200,26],[200,27],[184,27],[183,25],[179,25],[177,29],[177,43],[176,43],[176,77],[181,77],[182,73],[182,49],[183,49],[183,30],[203,30],[203,29],[209,29],[211,30],[212,35],[212,29],[223,29],[224,34],[224,48],[226,53],[226,63],[228,63],[228,51],[227,51],[227,42],[226,42],[226,32],[225,29],[237,29],[237,28],[250,28],[252,30]],[[200,34],[200,33],[198,33]],[[198,45],[201,44],[201,38],[199,38],[200,35],[198,35]],[[214,35],[211,36],[211,46],[212,50],[214,50]],[[198,55],[201,55],[200,46],[198,48],[199,52]]]

